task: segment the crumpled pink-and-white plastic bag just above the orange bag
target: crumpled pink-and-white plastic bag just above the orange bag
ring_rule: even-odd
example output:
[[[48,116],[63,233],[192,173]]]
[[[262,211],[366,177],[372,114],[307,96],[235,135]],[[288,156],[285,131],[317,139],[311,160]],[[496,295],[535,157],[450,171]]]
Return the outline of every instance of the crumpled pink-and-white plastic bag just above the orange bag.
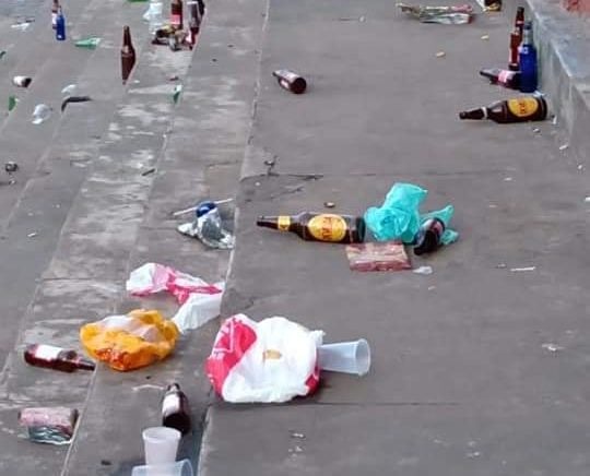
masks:
[[[149,296],[166,290],[175,296],[181,305],[193,293],[209,295],[223,291],[200,277],[181,273],[158,263],[145,263],[133,270],[127,279],[126,289],[133,296]]]

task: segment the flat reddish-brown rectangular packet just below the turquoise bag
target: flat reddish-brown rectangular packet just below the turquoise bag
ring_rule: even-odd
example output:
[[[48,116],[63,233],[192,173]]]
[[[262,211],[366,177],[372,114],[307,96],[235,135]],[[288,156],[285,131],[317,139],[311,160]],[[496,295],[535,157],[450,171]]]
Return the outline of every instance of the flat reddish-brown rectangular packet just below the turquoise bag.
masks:
[[[400,271],[412,269],[403,243],[398,241],[347,245],[346,257],[353,271]]]

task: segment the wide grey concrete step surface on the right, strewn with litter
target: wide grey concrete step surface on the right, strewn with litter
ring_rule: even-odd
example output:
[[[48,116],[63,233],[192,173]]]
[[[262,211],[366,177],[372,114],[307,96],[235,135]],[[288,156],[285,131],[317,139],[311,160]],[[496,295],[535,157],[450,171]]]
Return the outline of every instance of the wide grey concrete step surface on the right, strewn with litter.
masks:
[[[505,63],[510,22],[423,25],[381,1],[270,1],[223,314],[285,316],[326,342],[366,337],[373,367],[326,373],[316,395],[284,405],[217,401],[201,476],[588,474],[588,179],[548,121],[457,118],[518,95],[477,75]],[[279,88],[278,67],[304,74],[308,92]],[[396,181],[428,189],[424,210],[456,207],[459,242],[412,257],[429,276],[353,273],[341,246],[255,226],[324,201],[361,214]]]

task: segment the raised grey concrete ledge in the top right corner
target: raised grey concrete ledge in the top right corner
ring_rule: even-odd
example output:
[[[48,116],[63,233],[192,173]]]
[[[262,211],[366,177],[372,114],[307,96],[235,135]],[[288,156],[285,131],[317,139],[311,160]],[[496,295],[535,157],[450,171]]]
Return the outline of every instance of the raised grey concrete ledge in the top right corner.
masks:
[[[540,87],[550,97],[563,142],[578,157],[590,145],[590,19],[568,13],[559,0],[527,0],[534,20]]]

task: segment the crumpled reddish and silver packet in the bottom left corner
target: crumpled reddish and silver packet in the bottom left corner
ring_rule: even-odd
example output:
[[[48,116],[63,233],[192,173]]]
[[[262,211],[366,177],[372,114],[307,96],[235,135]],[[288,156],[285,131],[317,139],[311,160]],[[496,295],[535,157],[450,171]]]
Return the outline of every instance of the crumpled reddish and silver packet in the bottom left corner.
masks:
[[[69,444],[72,440],[78,409],[30,407],[19,412],[19,424],[27,429],[31,441],[48,444]]]

